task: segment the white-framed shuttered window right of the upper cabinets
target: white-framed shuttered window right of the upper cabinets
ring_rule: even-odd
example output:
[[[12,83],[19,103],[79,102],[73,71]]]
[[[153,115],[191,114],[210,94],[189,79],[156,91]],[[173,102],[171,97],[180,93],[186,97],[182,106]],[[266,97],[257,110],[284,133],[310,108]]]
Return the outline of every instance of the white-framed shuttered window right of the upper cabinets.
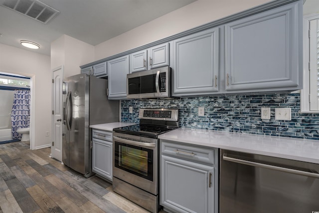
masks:
[[[304,89],[301,112],[319,113],[319,14],[304,16]]]

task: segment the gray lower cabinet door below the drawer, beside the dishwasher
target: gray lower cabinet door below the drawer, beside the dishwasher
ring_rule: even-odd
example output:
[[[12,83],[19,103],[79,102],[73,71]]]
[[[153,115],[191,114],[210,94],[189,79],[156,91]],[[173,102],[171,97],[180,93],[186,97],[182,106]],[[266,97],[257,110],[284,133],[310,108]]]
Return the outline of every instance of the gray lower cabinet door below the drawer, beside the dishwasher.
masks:
[[[172,212],[214,212],[213,167],[161,155],[160,172],[160,204],[164,208]]]

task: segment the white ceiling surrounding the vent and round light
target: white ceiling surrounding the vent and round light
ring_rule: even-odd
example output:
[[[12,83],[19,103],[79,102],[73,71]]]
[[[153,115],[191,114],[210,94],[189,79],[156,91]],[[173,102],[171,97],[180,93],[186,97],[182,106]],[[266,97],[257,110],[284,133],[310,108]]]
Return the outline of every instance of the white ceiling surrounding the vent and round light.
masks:
[[[60,11],[47,24],[0,6],[0,43],[26,49],[19,41],[30,40],[40,45],[30,51],[45,55],[63,34],[97,45],[196,0],[41,1]],[[304,14],[314,12],[319,12],[319,0],[306,0]]]

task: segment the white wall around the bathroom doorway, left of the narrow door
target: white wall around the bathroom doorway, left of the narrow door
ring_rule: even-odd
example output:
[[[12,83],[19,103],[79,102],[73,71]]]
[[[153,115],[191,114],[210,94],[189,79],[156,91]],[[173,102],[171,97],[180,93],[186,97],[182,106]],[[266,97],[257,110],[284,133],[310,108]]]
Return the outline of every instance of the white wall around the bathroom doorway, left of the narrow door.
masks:
[[[34,148],[50,146],[51,134],[51,69],[50,56],[0,43],[0,70],[33,76],[31,124],[35,129]],[[34,124],[32,124],[34,121]]]

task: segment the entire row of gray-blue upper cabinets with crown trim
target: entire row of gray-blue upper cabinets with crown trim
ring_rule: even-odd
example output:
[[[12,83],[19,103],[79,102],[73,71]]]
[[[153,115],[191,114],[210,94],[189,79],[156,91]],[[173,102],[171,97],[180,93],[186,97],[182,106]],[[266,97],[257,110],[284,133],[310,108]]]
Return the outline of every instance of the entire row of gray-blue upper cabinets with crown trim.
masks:
[[[172,68],[176,97],[299,90],[302,15],[302,0],[274,0],[162,39],[159,45],[103,59],[108,61],[105,69],[100,60],[82,66],[81,72],[108,75],[110,99],[126,98],[129,72],[162,66]]]

